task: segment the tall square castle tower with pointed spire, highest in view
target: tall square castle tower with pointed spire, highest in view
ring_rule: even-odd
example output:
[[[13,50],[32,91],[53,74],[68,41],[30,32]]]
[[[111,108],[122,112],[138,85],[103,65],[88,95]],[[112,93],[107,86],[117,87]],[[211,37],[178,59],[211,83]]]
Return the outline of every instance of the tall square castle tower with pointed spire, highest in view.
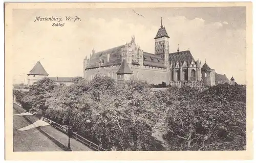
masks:
[[[169,36],[163,26],[163,20],[161,17],[160,29],[158,29],[157,35],[155,37],[155,55],[160,55],[164,60],[164,65],[168,66],[169,59]]]

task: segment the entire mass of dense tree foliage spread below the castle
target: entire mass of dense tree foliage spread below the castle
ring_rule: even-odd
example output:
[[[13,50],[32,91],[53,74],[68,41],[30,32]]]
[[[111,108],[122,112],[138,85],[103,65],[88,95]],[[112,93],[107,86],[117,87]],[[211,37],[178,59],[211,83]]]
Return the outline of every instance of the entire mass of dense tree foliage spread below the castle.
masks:
[[[71,125],[108,150],[243,150],[246,145],[243,86],[195,83],[153,92],[152,85],[135,80],[116,83],[96,76],[74,81],[57,86],[45,78],[16,99],[46,110],[47,118]],[[153,137],[156,130],[161,142]]]

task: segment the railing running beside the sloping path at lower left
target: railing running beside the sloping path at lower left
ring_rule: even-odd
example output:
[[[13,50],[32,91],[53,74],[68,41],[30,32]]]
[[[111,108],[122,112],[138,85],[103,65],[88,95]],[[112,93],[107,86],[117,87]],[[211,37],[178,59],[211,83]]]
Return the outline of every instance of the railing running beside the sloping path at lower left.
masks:
[[[49,123],[54,128],[56,128],[56,129],[58,129],[58,130],[60,130],[60,131],[62,131],[64,133],[66,133],[66,134],[68,133],[68,127],[62,126],[62,125],[60,125],[60,124],[58,124],[58,123],[56,123],[56,122],[54,122],[52,120],[49,120],[48,118],[42,117],[41,120]],[[76,132],[72,132],[72,133],[73,133],[72,137],[75,140],[77,140],[78,142],[82,143],[83,145],[87,145],[89,148],[91,148],[91,149],[93,148],[96,151],[106,151],[104,148],[98,146],[97,144],[95,144],[95,143],[93,143],[93,142],[91,142],[91,141],[81,137]]]

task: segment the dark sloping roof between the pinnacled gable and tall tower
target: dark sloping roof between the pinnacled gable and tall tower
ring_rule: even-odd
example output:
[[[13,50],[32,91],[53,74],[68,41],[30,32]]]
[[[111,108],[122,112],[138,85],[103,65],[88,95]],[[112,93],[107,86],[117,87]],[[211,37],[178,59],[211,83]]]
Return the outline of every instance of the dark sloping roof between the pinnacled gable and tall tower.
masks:
[[[165,68],[164,61],[162,60],[161,56],[154,55],[149,52],[143,52],[143,65]]]

